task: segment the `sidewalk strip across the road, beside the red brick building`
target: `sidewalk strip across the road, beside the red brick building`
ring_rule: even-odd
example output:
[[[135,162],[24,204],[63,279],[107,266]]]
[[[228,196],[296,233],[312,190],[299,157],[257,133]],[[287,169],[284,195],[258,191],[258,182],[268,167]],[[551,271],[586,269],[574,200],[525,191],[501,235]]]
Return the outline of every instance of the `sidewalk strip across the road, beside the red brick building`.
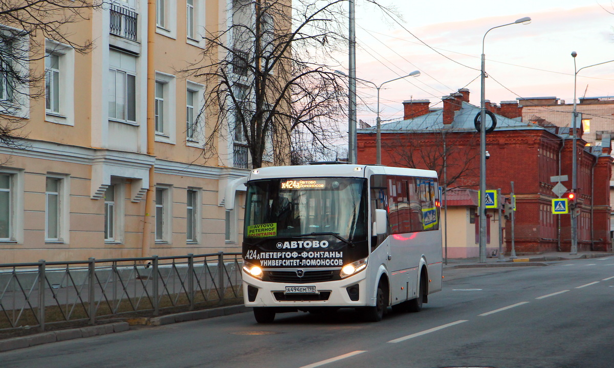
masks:
[[[549,251],[538,255],[518,255],[516,259],[510,259],[509,255],[499,257],[487,257],[485,263],[480,263],[480,258],[448,258],[448,264],[443,268],[477,268],[477,267],[516,267],[516,266],[547,266],[550,262],[570,261],[573,259],[601,258],[614,256],[614,253],[602,251],[578,251],[577,255],[570,255],[561,251]]]

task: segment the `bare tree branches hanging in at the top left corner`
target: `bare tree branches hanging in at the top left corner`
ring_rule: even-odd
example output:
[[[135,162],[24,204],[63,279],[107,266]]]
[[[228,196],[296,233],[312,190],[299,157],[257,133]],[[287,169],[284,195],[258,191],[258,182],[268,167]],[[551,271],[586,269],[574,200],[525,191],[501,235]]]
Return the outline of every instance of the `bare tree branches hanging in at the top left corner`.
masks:
[[[20,147],[29,100],[45,95],[45,72],[31,63],[45,57],[45,40],[87,53],[67,25],[87,20],[98,0],[0,0],[0,144]]]

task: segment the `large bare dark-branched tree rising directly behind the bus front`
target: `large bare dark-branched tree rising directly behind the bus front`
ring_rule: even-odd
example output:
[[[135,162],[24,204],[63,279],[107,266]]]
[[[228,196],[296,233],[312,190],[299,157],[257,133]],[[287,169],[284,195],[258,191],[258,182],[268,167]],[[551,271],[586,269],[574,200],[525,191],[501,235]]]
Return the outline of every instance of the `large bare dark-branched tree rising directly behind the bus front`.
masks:
[[[257,168],[263,161],[288,163],[291,151],[294,162],[307,158],[300,158],[305,147],[289,142],[325,148],[340,137],[347,92],[332,71],[340,65],[335,55],[346,53],[343,4],[232,1],[231,25],[205,37],[203,58],[187,70],[207,86],[205,155],[214,153],[217,139],[231,136]],[[294,139],[293,131],[300,132]]]

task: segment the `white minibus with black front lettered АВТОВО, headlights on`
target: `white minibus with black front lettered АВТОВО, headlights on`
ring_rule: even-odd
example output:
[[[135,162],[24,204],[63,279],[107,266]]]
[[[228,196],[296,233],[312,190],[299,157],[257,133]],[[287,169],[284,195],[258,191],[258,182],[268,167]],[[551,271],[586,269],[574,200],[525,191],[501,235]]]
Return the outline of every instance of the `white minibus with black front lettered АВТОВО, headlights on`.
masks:
[[[263,167],[243,182],[243,291],[258,323],[328,308],[380,321],[389,305],[418,312],[441,290],[435,171]]]

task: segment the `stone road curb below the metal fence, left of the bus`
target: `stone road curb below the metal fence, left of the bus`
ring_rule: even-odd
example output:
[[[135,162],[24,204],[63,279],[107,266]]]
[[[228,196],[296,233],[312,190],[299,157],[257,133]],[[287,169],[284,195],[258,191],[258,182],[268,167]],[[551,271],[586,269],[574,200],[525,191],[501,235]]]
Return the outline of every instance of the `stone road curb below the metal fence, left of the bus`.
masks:
[[[96,326],[87,326],[82,328],[64,329],[58,331],[41,332],[40,334],[12,337],[10,339],[0,340],[0,352],[17,350],[44,343],[52,343],[64,340],[81,339],[84,337],[99,336],[113,334],[115,332],[129,331],[130,326],[149,325],[163,326],[164,324],[179,323],[185,321],[204,320],[218,316],[233,315],[236,313],[249,312],[252,309],[243,304],[229,305],[227,307],[218,307],[212,309],[195,310],[193,312],[177,313],[174,315],[166,315],[151,318],[126,318],[126,321],[98,324]]]

